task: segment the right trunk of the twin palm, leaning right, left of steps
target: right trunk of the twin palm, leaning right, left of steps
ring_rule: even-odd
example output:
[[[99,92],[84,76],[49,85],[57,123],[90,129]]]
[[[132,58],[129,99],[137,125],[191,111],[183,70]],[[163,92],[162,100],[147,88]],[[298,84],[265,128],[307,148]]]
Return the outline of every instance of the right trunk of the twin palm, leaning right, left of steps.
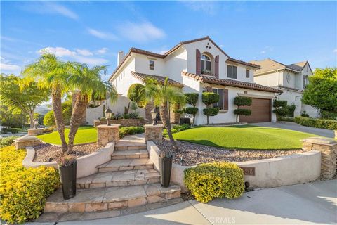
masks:
[[[72,153],[74,148],[74,139],[77,133],[77,129],[83,121],[84,112],[86,111],[86,105],[88,105],[88,96],[81,95],[79,91],[72,94],[74,105],[72,108],[72,117],[70,118],[70,131],[69,131],[69,143],[68,154]]]

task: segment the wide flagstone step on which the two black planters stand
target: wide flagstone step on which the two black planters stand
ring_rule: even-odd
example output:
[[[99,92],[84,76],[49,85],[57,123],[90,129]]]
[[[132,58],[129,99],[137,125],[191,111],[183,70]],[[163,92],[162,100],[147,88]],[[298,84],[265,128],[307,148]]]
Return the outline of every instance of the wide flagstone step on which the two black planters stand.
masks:
[[[58,189],[46,200],[44,212],[99,212],[122,210],[161,201],[180,198],[180,187],[171,185],[163,188],[159,183],[137,186],[79,189],[77,195],[69,200],[62,197]]]

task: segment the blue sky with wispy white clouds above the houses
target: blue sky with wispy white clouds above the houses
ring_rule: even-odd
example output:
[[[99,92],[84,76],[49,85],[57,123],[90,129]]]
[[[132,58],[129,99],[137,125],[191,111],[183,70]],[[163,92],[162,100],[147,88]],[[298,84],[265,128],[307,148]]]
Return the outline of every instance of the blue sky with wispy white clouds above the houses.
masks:
[[[337,2],[1,1],[1,72],[18,75],[47,48],[110,74],[119,50],[164,53],[206,35],[240,60],[336,66]]]

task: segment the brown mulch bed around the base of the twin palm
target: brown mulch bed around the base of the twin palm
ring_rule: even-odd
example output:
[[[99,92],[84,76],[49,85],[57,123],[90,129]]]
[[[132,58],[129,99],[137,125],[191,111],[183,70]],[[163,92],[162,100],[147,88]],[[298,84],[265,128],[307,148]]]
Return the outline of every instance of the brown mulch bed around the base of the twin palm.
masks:
[[[34,146],[35,149],[35,162],[52,162],[58,161],[65,154],[62,152],[60,146],[53,146],[49,143],[40,144],[39,146]],[[77,158],[93,153],[99,149],[97,143],[86,143],[74,146],[73,155]]]

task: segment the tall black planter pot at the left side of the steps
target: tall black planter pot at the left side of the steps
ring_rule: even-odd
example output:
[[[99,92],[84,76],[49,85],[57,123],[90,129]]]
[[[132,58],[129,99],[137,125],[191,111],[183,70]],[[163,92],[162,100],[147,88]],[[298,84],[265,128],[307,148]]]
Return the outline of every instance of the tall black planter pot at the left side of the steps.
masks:
[[[58,167],[62,184],[62,193],[65,200],[74,198],[76,195],[77,162],[65,167]]]

